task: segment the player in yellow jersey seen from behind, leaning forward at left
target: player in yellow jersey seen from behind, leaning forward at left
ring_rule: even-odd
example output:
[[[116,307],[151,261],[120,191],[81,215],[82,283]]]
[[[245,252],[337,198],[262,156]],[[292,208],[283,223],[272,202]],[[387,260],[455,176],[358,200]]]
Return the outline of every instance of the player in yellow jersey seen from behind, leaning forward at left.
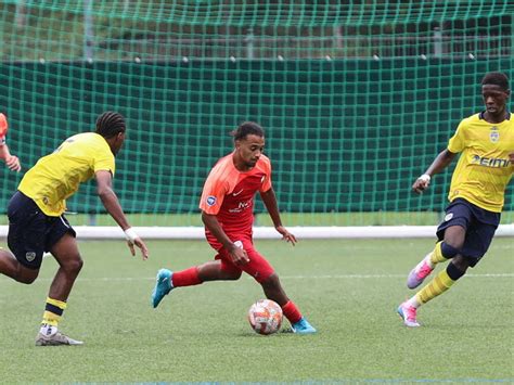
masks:
[[[9,202],[8,244],[12,254],[0,249],[0,272],[30,284],[39,274],[44,252],[50,252],[60,266],[50,285],[36,339],[38,346],[82,344],[57,330],[73,284],[82,268],[75,231],[63,215],[65,200],[77,192],[80,183],[93,177],[97,179],[98,195],[125,231],[131,254],[136,254],[136,245],[143,259],[149,256],[146,245],[130,228],[112,188],[114,157],[124,144],[125,130],[120,114],[103,113],[97,119],[95,132],[70,137],[52,154],[41,157],[25,174]]]

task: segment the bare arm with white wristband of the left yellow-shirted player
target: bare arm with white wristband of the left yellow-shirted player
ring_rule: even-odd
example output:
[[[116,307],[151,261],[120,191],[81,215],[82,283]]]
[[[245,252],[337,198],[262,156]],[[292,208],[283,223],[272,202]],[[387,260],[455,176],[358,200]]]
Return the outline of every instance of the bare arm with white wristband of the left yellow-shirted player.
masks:
[[[132,256],[136,255],[134,245],[141,249],[141,254],[144,259],[149,258],[149,249],[141,238],[138,236],[136,231],[130,227],[125,217],[125,213],[119,204],[118,197],[116,196],[112,185],[113,177],[110,171],[100,170],[95,174],[98,194],[102,204],[104,205],[107,213],[113,217],[116,223],[124,230],[127,238],[127,244],[130,248]]]

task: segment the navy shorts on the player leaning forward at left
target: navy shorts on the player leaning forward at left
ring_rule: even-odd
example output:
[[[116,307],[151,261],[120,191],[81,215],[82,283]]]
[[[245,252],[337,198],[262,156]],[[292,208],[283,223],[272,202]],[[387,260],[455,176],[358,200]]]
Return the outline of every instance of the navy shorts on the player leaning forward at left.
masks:
[[[76,236],[64,215],[49,217],[38,205],[17,191],[9,201],[8,245],[23,266],[38,270],[42,255],[66,233]]]

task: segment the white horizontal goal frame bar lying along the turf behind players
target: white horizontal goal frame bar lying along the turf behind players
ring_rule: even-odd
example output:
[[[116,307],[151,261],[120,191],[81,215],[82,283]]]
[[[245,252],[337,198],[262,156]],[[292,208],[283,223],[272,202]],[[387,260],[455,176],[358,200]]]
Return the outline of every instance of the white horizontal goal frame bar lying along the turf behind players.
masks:
[[[125,239],[119,227],[111,226],[74,226],[77,238],[82,240]],[[299,240],[305,239],[400,239],[435,238],[436,226],[349,226],[349,227],[286,227]],[[143,240],[202,240],[204,228],[201,227],[134,227]],[[0,226],[0,238],[8,234],[8,226]],[[255,239],[280,239],[272,227],[254,228]],[[496,236],[514,238],[514,223],[500,224]]]

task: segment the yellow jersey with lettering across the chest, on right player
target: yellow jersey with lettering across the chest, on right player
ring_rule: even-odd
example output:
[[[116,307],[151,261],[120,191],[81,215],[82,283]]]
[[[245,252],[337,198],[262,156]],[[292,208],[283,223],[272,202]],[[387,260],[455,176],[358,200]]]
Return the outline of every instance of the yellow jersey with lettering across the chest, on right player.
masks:
[[[488,123],[484,113],[463,119],[448,143],[452,153],[462,153],[451,178],[448,198],[463,197],[489,211],[500,213],[514,166],[514,118]]]

